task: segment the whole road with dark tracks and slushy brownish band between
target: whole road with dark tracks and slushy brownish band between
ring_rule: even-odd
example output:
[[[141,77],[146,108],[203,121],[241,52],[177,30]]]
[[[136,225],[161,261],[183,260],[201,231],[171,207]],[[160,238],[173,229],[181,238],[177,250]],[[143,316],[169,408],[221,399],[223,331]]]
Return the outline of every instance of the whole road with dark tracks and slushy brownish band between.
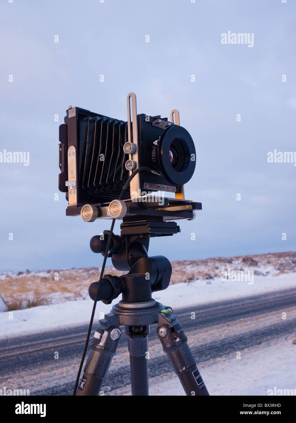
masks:
[[[296,288],[173,312],[201,369],[208,360],[295,334]],[[195,319],[191,318],[192,312]],[[289,318],[282,319],[282,312]],[[30,395],[71,395],[86,334],[84,324],[0,340],[0,387],[30,389]],[[156,325],[150,327],[149,352],[150,379],[172,372]],[[129,384],[127,338],[123,334],[102,389],[109,395],[115,390],[128,391]]]

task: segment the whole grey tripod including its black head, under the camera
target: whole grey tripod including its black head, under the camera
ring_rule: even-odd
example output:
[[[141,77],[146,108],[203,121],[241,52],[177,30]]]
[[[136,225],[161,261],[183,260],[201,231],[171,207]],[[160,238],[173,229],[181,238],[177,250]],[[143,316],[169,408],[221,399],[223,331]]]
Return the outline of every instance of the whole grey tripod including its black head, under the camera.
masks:
[[[118,270],[129,270],[121,277],[104,275],[90,285],[92,299],[110,304],[122,294],[122,300],[99,321],[91,343],[91,351],[79,382],[76,395],[99,395],[112,357],[116,354],[125,326],[130,354],[130,376],[133,396],[147,396],[148,392],[148,335],[149,325],[158,324],[157,333],[173,370],[179,377],[186,395],[209,395],[196,362],[187,344],[186,335],[170,307],[152,299],[152,292],[166,289],[171,278],[171,264],[161,255],[148,257],[149,238],[168,236],[180,231],[176,222],[163,222],[159,217],[125,217],[121,235],[111,234],[108,257]],[[103,237],[93,236],[90,247],[95,253],[106,248],[109,231]],[[98,291],[99,289],[99,291]],[[97,294],[98,291],[98,294]]]

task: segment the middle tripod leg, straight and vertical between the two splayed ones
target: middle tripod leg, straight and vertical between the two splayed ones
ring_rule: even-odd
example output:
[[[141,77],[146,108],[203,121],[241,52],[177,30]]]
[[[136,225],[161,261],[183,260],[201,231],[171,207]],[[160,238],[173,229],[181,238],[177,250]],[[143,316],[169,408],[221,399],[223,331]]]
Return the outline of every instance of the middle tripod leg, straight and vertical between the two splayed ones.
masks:
[[[130,353],[130,380],[132,395],[149,395],[148,384],[148,329],[146,326],[126,327],[128,335],[128,351]]]

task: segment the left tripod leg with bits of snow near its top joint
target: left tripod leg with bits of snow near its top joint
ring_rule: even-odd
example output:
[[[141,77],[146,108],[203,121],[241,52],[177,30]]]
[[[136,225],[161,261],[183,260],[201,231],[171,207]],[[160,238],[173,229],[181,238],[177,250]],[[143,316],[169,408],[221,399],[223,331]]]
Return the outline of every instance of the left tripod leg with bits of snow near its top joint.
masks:
[[[77,396],[99,395],[112,357],[116,354],[121,330],[119,329],[117,317],[108,321],[106,316],[105,319],[100,320],[92,338],[91,351],[84,367],[82,379],[79,382],[76,392]]]

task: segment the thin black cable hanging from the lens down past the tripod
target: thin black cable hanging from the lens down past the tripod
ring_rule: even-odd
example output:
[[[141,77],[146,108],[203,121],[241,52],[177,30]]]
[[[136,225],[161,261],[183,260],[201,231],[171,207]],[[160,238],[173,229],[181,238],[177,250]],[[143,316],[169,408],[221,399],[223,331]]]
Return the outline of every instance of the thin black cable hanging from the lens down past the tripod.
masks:
[[[130,181],[133,179],[133,177],[137,173],[141,172],[142,170],[149,170],[150,172],[152,172],[152,169],[147,168],[146,166],[142,166],[141,168],[138,168],[138,169],[134,170],[133,173],[128,178],[128,180],[123,185],[122,191],[120,192],[120,195],[119,195],[118,200],[121,200],[122,199],[122,195],[127,190],[128,186],[130,184]],[[85,355],[86,355],[86,352],[87,352],[88,343],[90,341],[90,332],[92,331],[92,323],[93,323],[93,319],[94,319],[94,316],[95,316],[95,307],[96,307],[97,301],[98,301],[97,298],[98,298],[99,286],[100,286],[100,283],[101,283],[101,281],[103,279],[103,273],[104,273],[104,270],[105,270],[106,260],[107,260],[107,256],[108,256],[108,253],[109,253],[109,247],[110,247],[110,243],[111,243],[111,236],[112,236],[113,228],[114,228],[114,225],[115,225],[115,220],[116,219],[112,219],[112,223],[111,223],[111,228],[110,228],[110,232],[109,232],[109,236],[108,236],[108,241],[107,241],[107,245],[106,245],[104,260],[103,260],[103,264],[102,264],[102,269],[101,269],[101,272],[100,272],[100,279],[98,281],[98,289],[97,289],[97,293],[95,294],[95,301],[94,301],[94,305],[92,307],[92,315],[90,317],[90,325],[88,327],[88,332],[87,332],[87,338],[86,338],[86,342],[85,342],[85,346],[84,346],[84,351],[83,351],[83,354],[82,354],[82,357],[81,357],[81,362],[80,362],[80,365],[79,365],[79,371],[78,371],[78,374],[77,374],[77,377],[76,377],[76,382],[75,382],[75,387],[74,387],[74,391],[73,391],[73,396],[76,395],[76,391],[77,391],[77,387],[78,387],[78,383],[79,383],[79,379],[80,379],[80,374],[81,374],[81,370],[82,370],[82,366],[83,366]]]

